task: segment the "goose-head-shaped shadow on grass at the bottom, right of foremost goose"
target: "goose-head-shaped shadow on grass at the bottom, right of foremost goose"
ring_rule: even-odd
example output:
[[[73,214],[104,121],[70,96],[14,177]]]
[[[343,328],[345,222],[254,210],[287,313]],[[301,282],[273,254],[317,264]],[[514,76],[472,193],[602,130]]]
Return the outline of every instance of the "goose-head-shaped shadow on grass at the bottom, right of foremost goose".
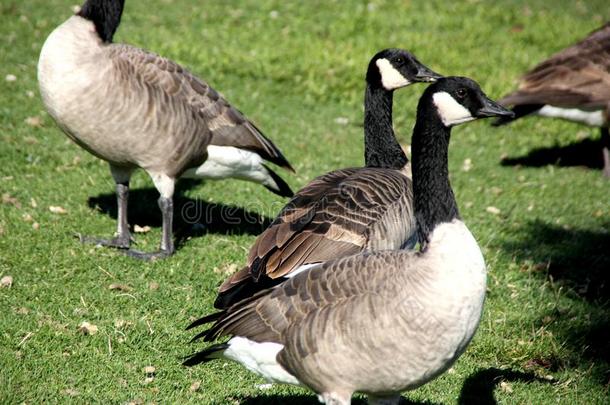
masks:
[[[487,368],[471,374],[464,381],[458,404],[460,405],[495,405],[494,390],[502,381],[506,382],[543,382],[550,381],[537,377],[535,374],[521,371]]]

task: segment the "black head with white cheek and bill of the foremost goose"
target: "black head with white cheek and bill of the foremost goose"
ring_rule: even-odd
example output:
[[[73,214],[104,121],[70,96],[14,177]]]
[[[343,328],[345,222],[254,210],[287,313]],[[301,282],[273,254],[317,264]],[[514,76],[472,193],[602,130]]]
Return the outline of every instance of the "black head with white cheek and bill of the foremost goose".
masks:
[[[432,100],[436,112],[446,127],[484,117],[513,117],[515,114],[481,90],[467,77],[445,77],[429,86],[425,94]]]

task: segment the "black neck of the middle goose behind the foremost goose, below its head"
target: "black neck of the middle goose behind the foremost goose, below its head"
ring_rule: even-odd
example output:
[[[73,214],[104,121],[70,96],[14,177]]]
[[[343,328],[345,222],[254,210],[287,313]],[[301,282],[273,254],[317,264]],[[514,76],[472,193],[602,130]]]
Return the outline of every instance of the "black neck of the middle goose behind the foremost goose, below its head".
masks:
[[[367,167],[402,169],[409,159],[392,128],[391,91],[367,84],[364,94],[364,161]]]

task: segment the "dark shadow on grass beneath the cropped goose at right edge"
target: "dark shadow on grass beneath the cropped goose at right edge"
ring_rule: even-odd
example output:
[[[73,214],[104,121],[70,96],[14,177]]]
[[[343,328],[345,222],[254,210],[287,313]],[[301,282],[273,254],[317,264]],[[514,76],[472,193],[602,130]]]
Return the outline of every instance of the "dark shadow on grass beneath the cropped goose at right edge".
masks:
[[[502,166],[542,167],[556,165],[602,169],[604,167],[602,142],[600,140],[584,139],[566,146],[538,148],[525,156],[504,158],[500,164]]]

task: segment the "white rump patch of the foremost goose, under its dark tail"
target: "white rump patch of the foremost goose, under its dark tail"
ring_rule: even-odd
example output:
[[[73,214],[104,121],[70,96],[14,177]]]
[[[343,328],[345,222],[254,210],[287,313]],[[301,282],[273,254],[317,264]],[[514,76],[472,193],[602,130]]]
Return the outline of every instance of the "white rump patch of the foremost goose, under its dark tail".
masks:
[[[272,383],[302,385],[278,362],[277,354],[284,345],[273,342],[257,343],[245,337],[236,336],[229,340],[224,356],[238,362],[249,371]]]

